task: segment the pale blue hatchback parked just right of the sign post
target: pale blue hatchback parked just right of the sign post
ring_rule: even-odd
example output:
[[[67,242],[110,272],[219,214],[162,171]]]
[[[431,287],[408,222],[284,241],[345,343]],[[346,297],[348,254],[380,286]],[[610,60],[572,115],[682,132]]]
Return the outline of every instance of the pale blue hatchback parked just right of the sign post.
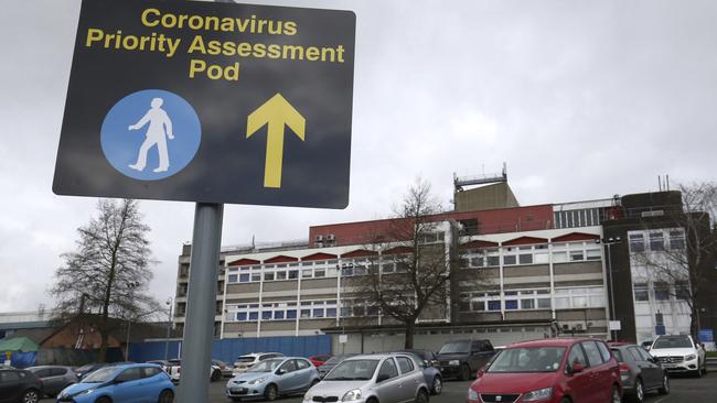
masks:
[[[279,395],[302,393],[319,382],[319,371],[306,358],[282,357],[257,362],[226,383],[226,396],[275,400]]]

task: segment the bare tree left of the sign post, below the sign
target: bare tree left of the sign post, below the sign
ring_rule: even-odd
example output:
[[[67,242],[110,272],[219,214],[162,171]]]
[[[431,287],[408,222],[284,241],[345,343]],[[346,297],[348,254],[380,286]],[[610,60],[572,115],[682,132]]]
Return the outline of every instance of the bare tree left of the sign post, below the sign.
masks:
[[[86,322],[100,335],[100,360],[106,359],[109,335],[122,320],[137,320],[160,311],[147,294],[150,228],[142,222],[136,200],[100,199],[97,217],[77,229],[76,251],[62,255],[51,293],[56,320]],[[122,320],[117,320],[122,319]]]

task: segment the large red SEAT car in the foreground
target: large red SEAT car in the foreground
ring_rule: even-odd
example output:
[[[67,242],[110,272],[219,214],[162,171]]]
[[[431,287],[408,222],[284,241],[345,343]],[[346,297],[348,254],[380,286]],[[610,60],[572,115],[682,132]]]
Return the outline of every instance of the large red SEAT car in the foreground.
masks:
[[[507,346],[468,389],[467,403],[620,403],[620,367],[608,346],[560,338]]]

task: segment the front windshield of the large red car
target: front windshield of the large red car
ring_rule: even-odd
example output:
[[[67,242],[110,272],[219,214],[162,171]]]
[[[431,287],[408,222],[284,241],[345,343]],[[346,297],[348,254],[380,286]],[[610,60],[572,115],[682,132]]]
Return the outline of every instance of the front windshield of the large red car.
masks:
[[[555,372],[565,347],[509,348],[501,351],[488,372]]]

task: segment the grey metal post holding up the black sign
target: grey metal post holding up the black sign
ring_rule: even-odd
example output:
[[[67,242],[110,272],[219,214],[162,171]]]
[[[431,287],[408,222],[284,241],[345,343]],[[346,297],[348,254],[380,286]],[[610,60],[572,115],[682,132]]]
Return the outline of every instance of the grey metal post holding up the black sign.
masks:
[[[197,203],[194,210],[180,403],[206,402],[208,396],[223,215],[221,204]]]

